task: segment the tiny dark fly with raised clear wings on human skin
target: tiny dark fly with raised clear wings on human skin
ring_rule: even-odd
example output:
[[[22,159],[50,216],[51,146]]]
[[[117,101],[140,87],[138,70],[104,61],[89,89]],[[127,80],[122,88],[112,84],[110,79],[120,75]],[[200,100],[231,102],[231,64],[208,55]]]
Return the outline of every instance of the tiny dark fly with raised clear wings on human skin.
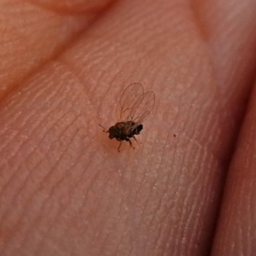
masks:
[[[117,123],[108,130],[100,125],[109,138],[119,141],[118,151],[123,141],[131,143],[131,138],[137,142],[135,135],[143,130],[143,121],[154,108],[155,96],[153,91],[144,91],[139,83],[130,84],[123,92],[116,108]]]

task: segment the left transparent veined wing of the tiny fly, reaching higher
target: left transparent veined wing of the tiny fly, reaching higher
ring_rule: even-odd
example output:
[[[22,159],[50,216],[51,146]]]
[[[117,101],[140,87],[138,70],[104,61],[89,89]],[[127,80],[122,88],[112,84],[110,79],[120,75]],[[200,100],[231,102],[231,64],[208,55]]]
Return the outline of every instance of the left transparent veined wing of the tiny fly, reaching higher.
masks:
[[[118,121],[131,121],[131,113],[142,101],[143,94],[143,85],[139,83],[130,84],[125,89],[116,108]]]

